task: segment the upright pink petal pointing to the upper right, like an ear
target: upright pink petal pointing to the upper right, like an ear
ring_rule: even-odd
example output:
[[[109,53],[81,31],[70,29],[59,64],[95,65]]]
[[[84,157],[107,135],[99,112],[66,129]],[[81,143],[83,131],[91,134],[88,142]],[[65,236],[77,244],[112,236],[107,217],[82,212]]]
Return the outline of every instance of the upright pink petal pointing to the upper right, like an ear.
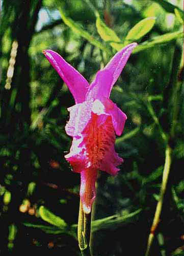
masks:
[[[114,57],[110,60],[110,62],[106,65],[106,67],[104,67],[103,70],[110,71],[113,76],[111,87],[107,88],[107,90],[108,90],[107,98],[109,98],[109,96],[111,94],[111,90],[112,90],[115,82],[117,81],[119,75],[121,74],[122,69],[126,65],[126,62],[129,58],[130,54],[132,53],[132,51],[134,50],[134,48],[136,46],[137,46],[136,42],[133,42],[132,44],[125,46],[121,51],[117,52],[114,55]],[[104,88],[104,90],[106,90],[106,89]]]

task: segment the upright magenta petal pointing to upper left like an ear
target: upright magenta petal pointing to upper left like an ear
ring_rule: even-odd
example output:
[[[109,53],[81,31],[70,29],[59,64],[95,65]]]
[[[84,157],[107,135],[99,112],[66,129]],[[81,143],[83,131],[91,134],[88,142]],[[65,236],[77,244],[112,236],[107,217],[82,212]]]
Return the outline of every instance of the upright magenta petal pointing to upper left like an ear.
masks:
[[[75,99],[75,102],[83,102],[89,88],[88,81],[58,53],[51,50],[44,50],[43,53],[52,67],[58,72],[63,81],[67,84]]]

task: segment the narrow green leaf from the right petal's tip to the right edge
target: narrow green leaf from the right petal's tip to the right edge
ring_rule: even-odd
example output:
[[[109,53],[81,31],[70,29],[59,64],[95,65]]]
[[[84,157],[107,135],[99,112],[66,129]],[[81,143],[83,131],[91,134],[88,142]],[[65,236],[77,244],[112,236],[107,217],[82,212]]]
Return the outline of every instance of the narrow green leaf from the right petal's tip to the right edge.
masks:
[[[170,41],[175,40],[180,37],[183,37],[182,31],[177,31],[177,32],[173,32],[173,33],[167,33],[164,35],[156,36],[151,41],[147,40],[147,41],[143,42],[143,44],[138,45],[135,48],[135,50],[133,51],[133,53],[137,53],[137,52],[149,49],[156,45],[166,44],[167,42],[170,42]]]

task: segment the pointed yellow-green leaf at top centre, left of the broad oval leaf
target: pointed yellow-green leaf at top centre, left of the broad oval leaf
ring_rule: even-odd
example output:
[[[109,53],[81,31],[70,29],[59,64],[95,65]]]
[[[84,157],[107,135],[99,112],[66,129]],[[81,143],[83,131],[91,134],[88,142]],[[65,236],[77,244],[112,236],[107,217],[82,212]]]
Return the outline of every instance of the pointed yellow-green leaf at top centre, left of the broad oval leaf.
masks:
[[[110,29],[101,19],[100,16],[96,15],[96,28],[98,31],[98,34],[104,41],[114,41],[111,42],[110,45],[117,49],[118,45],[115,42],[119,42],[120,38],[116,35],[114,30]],[[119,48],[118,48],[119,50]]]

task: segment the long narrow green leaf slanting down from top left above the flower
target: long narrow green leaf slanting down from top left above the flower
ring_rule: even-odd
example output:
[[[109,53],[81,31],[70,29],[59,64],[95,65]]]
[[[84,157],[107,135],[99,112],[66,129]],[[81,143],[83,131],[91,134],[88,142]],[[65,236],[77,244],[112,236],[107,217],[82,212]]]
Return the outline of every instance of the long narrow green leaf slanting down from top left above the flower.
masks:
[[[108,47],[104,46],[94,38],[94,36],[90,35],[86,30],[84,30],[80,25],[78,25],[76,22],[74,22],[71,18],[67,17],[63,8],[59,7],[59,11],[61,14],[61,18],[63,19],[63,22],[73,30],[74,33],[84,37],[87,39],[92,45],[98,47],[99,49],[108,52],[111,54],[111,51],[108,49]]]

